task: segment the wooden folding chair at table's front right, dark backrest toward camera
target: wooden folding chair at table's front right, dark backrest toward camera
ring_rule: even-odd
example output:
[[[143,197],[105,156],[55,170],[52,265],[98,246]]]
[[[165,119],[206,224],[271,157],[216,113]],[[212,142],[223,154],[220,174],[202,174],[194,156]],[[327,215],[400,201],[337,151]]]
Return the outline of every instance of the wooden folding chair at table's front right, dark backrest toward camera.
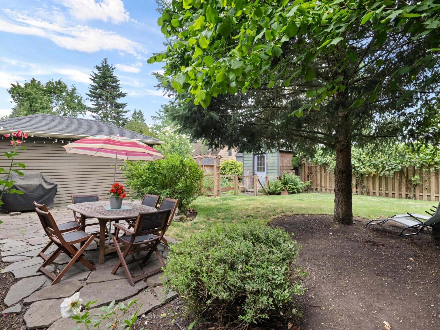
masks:
[[[128,229],[121,224],[113,225],[116,228],[116,235],[113,237],[113,243],[114,247],[116,248],[117,255],[119,256],[119,260],[111,271],[112,274],[116,274],[118,268],[122,266],[124,268],[125,275],[127,276],[128,283],[130,283],[131,286],[134,286],[134,282],[159,273],[161,271],[161,268],[132,278],[132,275],[128,270],[127,264],[131,264],[141,259],[143,260],[143,264],[145,264],[153,252],[155,252],[158,256],[159,262],[161,263],[162,267],[165,267],[164,260],[162,259],[162,256],[158,251],[158,245],[161,242],[163,233],[165,232],[170,213],[171,209],[165,209],[156,212],[139,213],[136,219],[134,230]],[[124,231],[126,235],[118,237],[118,233],[120,230]],[[122,243],[123,245],[125,245],[124,253],[122,253],[118,243]],[[129,254],[137,253],[144,250],[149,250],[145,257],[132,259],[128,262],[125,261],[125,257],[127,257]]]

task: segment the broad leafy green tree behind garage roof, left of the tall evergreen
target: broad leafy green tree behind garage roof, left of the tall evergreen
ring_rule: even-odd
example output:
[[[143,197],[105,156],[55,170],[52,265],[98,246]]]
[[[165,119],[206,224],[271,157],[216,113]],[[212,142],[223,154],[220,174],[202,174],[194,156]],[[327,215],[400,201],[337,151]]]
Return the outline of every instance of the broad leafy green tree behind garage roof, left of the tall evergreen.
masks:
[[[58,114],[77,117],[87,107],[74,85],[69,88],[61,79],[41,84],[35,78],[24,84],[11,84],[7,90],[15,103],[9,117],[30,114]]]

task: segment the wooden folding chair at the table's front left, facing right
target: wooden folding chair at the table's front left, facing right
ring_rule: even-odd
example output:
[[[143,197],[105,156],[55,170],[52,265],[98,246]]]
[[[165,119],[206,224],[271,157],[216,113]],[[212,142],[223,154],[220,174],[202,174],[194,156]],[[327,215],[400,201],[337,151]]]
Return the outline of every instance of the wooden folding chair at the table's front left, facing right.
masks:
[[[41,225],[43,226],[46,235],[48,235],[49,239],[52,242],[54,242],[55,245],[58,247],[54,251],[54,253],[52,253],[50,257],[48,257],[48,259],[44,261],[44,263],[40,266],[40,268],[38,268],[37,272],[41,271],[42,273],[48,275],[52,279],[52,285],[53,285],[61,280],[61,278],[66,274],[69,268],[72,267],[72,265],[76,261],[81,261],[81,263],[84,264],[84,266],[86,266],[91,271],[95,270],[95,267],[93,267],[93,265],[90,264],[87,260],[85,260],[84,257],[82,256],[84,250],[95,239],[96,237],[95,235],[87,234],[82,230],[74,230],[62,234],[59,231],[59,228],[50,212],[42,211],[37,207],[35,208],[35,212],[37,212],[38,217],[40,218]],[[82,242],[84,242],[84,245],[81,247],[81,249],[77,249],[77,247],[73,245]],[[67,256],[71,258],[71,260],[66,265],[66,267],[62,269],[62,271],[58,274],[58,276],[55,276],[46,269],[46,266],[54,262],[55,259],[62,252],[66,253]]]

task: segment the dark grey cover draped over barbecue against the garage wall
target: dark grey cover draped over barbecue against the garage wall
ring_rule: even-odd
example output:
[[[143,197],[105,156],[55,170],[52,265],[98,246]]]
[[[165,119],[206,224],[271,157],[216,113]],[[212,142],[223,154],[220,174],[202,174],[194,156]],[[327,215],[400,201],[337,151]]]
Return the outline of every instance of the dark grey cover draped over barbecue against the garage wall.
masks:
[[[25,175],[11,173],[9,180],[15,181],[13,189],[21,190],[24,194],[7,194],[5,192],[3,194],[4,204],[1,205],[1,208],[9,212],[30,211],[35,209],[33,202],[53,206],[58,185],[41,173],[23,172]],[[6,176],[3,180],[6,180]],[[3,189],[3,186],[0,188]]]

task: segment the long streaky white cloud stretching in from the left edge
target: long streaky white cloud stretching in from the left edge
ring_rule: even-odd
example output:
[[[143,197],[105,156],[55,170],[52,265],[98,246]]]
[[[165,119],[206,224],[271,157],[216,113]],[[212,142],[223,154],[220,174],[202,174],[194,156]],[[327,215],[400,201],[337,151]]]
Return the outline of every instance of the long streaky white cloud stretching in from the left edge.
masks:
[[[117,50],[141,58],[139,52],[145,52],[141,44],[112,31],[82,25],[64,26],[8,9],[4,12],[13,22],[0,17],[0,31],[43,37],[50,39],[59,47],[88,53]]]

